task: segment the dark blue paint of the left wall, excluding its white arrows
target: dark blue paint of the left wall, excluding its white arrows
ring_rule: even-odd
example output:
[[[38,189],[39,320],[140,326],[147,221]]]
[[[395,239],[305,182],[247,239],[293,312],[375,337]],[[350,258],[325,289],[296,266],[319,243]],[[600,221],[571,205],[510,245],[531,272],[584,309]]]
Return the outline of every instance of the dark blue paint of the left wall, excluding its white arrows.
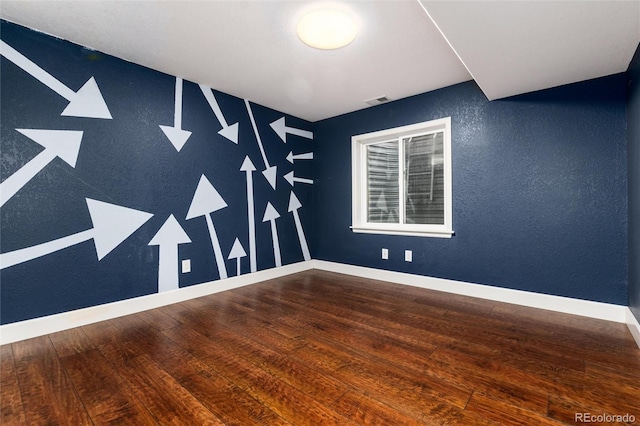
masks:
[[[310,161],[290,164],[289,151],[313,150],[312,141],[289,136],[285,144],[269,124],[284,114],[252,105],[266,156],[278,167],[276,190],[265,168],[243,99],[215,91],[229,124],[239,122],[239,142],[218,134],[221,128],[197,84],[184,82],[182,127],[192,131],[178,152],[159,125],[172,125],[176,79],[120,59],[84,49],[11,23],[0,23],[2,40],[72,90],[95,77],[113,119],[61,116],[68,101],[2,57],[1,175],[20,170],[43,148],[15,129],[82,130],[75,168],[55,159],[0,209],[1,252],[36,246],[92,228],[85,198],[154,216],[98,261],[92,241],[79,243],[0,272],[1,322],[11,323],[58,312],[142,296],[158,291],[159,248],[148,243],[173,214],[192,243],[181,245],[179,259],[191,259],[192,272],[180,274],[180,286],[220,278],[204,217],[185,220],[202,174],[228,204],[212,220],[224,258],[236,237],[248,247],[246,174],[240,166],[249,156],[258,169],[255,191],[258,270],[275,266],[270,224],[262,218],[267,202],[280,213],[276,220],[282,263],[303,260],[292,213],[292,187],[283,176],[295,170],[312,178]],[[286,116],[288,126],[311,130],[311,124]],[[312,186],[295,185],[307,240],[312,232]],[[229,276],[236,261],[226,260]],[[241,260],[249,272],[249,258]]]

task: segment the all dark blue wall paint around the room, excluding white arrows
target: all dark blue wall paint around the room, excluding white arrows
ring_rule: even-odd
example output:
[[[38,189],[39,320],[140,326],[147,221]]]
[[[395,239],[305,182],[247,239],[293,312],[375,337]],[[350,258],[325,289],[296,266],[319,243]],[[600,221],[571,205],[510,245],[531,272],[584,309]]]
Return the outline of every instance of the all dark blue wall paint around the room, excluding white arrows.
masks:
[[[248,252],[246,175],[239,171],[247,155],[258,169],[260,270],[275,266],[271,228],[262,223],[267,202],[281,215],[282,263],[303,260],[287,212],[292,188],[283,179],[294,170],[315,178],[313,186],[294,188],[314,258],[622,305],[630,299],[640,316],[638,53],[628,99],[625,75],[493,102],[469,82],[313,124],[286,116],[287,125],[314,130],[313,142],[289,136],[285,145],[269,126],[284,114],[253,104],[266,155],[278,167],[274,190],[260,173],[262,156],[243,99],[214,92],[227,121],[239,123],[235,145],[217,133],[220,124],[198,85],[185,81],[182,127],[193,134],[178,152],[159,128],[173,123],[175,77],[4,21],[0,26],[3,41],[72,90],[95,77],[113,116],[61,116],[67,100],[0,59],[2,182],[42,151],[15,129],[84,132],[75,168],[53,160],[0,208],[0,252],[91,229],[86,198],[154,214],[99,261],[86,241],[2,269],[3,324],[157,292],[159,249],[148,243],[171,214],[192,240],[179,249],[179,259],[191,259],[193,269],[180,274],[180,286],[218,280],[204,218],[185,216],[205,174],[228,204],[212,214],[224,257],[236,237]],[[445,116],[453,123],[456,235],[352,233],[351,136]],[[313,151],[315,160],[292,165],[290,151]],[[387,261],[380,259],[382,247],[390,249]],[[405,249],[413,250],[412,263],[403,261]],[[247,257],[241,265],[249,272]],[[234,276],[235,261],[226,260],[226,267]]]

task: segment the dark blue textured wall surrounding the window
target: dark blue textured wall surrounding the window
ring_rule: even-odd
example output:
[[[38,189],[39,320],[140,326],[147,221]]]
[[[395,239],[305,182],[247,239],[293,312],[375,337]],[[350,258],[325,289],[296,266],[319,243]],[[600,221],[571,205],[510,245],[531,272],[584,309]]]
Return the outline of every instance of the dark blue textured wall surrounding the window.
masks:
[[[625,84],[489,102],[468,82],[316,123],[315,258],[626,305]],[[455,236],[353,233],[351,136],[446,116]]]

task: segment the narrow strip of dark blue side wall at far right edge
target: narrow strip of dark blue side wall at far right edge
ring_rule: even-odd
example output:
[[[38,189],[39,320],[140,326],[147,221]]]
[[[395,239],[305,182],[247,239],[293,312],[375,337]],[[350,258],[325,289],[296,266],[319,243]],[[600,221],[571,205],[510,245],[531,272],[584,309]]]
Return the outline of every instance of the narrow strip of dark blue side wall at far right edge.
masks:
[[[640,45],[627,76],[629,307],[640,321]]]

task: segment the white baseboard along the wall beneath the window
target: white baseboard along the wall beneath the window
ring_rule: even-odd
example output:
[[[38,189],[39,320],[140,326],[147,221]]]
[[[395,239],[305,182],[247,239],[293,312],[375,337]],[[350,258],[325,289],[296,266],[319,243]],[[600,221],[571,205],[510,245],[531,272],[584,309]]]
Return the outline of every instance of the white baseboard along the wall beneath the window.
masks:
[[[512,290],[482,284],[472,284],[443,278],[425,277],[422,275],[407,274],[403,272],[385,271],[381,269],[366,268],[363,266],[345,265],[342,263],[327,262],[323,260],[313,260],[312,262],[314,262],[314,267],[316,269],[322,269],[325,271],[356,275],[363,278],[389,281],[397,284],[411,285],[430,290],[444,291],[447,293],[455,293],[480,299],[489,299],[497,302],[513,303],[516,305],[581,315],[584,317],[603,319],[607,321],[615,321],[619,323],[627,322],[626,311],[628,308],[621,305],[573,299],[571,297],[551,296],[548,294]]]

